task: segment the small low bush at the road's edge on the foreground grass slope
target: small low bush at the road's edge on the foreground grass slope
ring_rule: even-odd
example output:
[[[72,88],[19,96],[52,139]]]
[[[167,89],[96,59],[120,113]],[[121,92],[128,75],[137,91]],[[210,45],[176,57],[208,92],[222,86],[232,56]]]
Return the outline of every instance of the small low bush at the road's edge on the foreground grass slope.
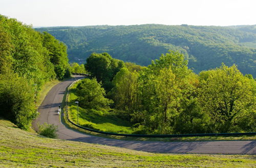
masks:
[[[39,127],[39,134],[46,137],[56,138],[58,126],[53,124],[44,123],[42,125],[38,125]]]

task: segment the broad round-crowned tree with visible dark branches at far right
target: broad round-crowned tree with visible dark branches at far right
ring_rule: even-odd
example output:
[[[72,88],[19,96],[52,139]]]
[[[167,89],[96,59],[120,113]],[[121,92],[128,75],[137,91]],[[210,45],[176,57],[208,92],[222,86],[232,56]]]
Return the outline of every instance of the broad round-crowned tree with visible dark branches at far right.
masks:
[[[209,71],[200,81],[199,102],[219,132],[232,131],[232,126],[236,126],[248,110],[254,107],[255,111],[255,95],[249,79],[235,65],[227,67],[223,64]]]

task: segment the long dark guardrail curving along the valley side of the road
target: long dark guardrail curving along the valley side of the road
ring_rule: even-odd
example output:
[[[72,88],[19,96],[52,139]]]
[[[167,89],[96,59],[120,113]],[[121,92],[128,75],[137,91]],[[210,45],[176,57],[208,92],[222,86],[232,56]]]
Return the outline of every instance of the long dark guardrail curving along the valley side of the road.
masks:
[[[71,85],[68,88],[68,93],[67,93],[67,98],[66,98],[66,113],[67,113],[67,118],[68,121],[81,128],[84,130],[88,130],[91,132],[96,132],[96,133],[102,133],[102,134],[106,134],[106,135],[116,135],[116,136],[130,136],[130,137],[195,137],[195,136],[244,136],[244,135],[256,135],[256,132],[239,132],[239,133],[198,133],[198,134],[170,134],[170,135],[148,135],[148,134],[123,134],[123,133],[112,133],[112,132],[104,132],[104,131],[98,131],[98,130],[94,130],[94,129],[90,129],[90,128],[86,128],[80,125],[75,124],[74,122],[72,122],[69,119],[69,114],[68,114],[68,97],[69,97],[69,90],[71,88],[71,86],[79,81],[81,79],[78,79],[76,81],[74,81],[73,83],[71,83]]]

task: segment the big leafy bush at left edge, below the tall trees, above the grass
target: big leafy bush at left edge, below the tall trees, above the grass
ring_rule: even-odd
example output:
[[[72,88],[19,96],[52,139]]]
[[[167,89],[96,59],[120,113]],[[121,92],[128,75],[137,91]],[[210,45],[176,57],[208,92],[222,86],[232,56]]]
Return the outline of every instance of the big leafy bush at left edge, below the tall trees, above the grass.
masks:
[[[16,74],[0,75],[0,116],[28,129],[36,117],[34,88]]]

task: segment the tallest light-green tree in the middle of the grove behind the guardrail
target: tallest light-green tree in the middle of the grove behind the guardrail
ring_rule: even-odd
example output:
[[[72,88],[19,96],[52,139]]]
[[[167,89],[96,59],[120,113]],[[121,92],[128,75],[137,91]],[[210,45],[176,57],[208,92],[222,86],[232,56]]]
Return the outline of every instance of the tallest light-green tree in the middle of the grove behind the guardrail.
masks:
[[[146,111],[141,124],[155,133],[181,132],[175,130],[178,117],[186,113],[187,108],[196,108],[186,103],[193,99],[194,89],[187,79],[190,71],[186,65],[183,54],[169,51],[140,75],[140,111]]]

